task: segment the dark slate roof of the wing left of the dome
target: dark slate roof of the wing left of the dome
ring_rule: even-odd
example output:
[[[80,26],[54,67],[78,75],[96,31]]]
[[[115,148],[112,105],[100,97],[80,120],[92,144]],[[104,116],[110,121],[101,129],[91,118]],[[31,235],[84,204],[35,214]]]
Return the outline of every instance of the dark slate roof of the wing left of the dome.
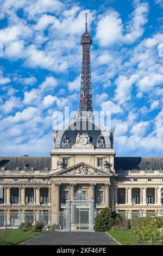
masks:
[[[0,169],[2,167],[8,170],[14,170],[16,167],[19,167],[20,170],[23,170],[24,167],[27,170],[43,170],[45,167],[51,169],[51,157],[2,156],[0,157]]]

